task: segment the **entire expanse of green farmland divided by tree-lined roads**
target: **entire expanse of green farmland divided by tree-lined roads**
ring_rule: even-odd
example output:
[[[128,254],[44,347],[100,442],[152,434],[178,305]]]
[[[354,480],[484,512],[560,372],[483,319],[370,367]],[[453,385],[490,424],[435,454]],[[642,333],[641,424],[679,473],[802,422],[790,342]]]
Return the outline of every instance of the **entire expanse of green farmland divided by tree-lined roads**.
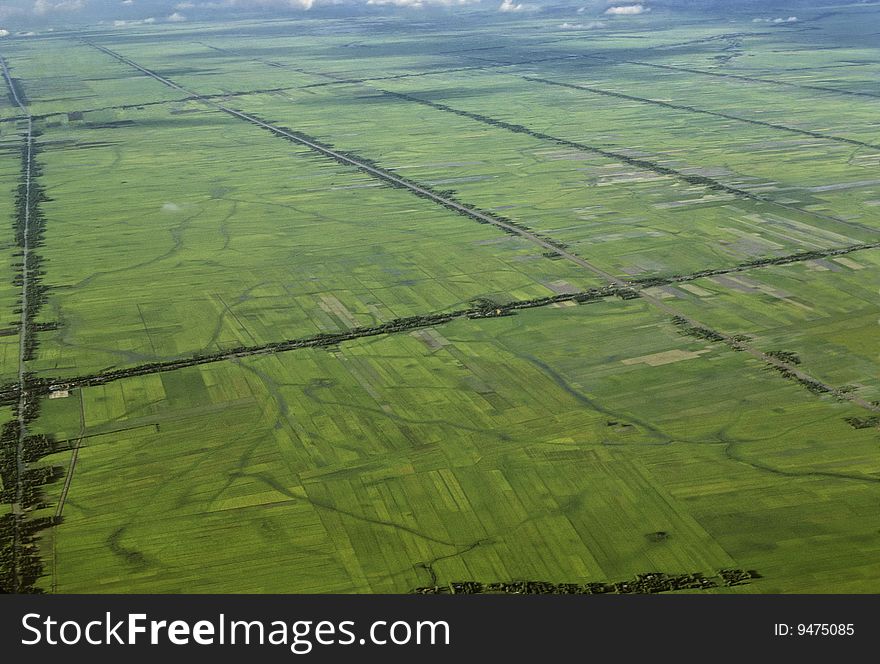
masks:
[[[0,44],[26,589],[880,592],[880,9],[683,16]]]

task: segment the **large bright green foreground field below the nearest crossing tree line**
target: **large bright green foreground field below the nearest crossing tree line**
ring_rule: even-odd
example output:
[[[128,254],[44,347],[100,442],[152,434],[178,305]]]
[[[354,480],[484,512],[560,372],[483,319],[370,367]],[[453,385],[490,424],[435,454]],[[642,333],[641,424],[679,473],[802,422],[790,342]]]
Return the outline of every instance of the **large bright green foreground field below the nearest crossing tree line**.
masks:
[[[732,566],[764,574],[753,591],[875,587],[858,409],[640,303],[433,335],[83,390],[58,591],[405,592],[425,564],[441,583]],[[673,349],[706,353],[623,361]],[[74,435],[72,401],[42,426]]]

